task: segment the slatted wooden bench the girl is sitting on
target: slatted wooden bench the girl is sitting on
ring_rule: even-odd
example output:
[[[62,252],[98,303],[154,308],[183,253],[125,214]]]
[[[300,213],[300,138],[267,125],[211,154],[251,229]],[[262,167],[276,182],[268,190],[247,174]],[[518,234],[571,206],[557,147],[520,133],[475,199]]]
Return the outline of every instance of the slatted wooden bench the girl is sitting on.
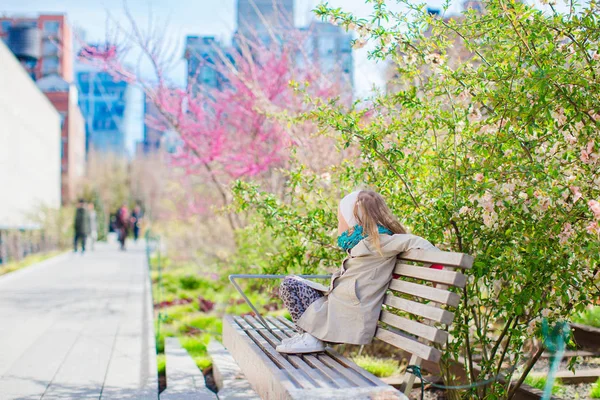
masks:
[[[443,270],[428,268],[441,264]],[[466,277],[454,269],[471,268],[467,254],[411,250],[403,253],[384,299],[375,337],[411,354],[410,365],[438,363],[448,327]],[[404,393],[327,347],[325,352],[284,355],[275,350],[295,333],[285,318],[225,316],[223,343],[263,399],[406,399],[415,376],[404,376]],[[343,326],[340,326],[343,329]]]

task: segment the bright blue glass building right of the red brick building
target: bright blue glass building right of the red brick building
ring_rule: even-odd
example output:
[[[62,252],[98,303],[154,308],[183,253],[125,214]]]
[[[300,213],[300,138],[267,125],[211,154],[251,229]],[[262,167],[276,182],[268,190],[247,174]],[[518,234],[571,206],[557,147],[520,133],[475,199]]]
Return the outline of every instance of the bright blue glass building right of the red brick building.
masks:
[[[86,152],[126,153],[126,105],[129,85],[105,71],[77,65],[75,83],[85,120]]]

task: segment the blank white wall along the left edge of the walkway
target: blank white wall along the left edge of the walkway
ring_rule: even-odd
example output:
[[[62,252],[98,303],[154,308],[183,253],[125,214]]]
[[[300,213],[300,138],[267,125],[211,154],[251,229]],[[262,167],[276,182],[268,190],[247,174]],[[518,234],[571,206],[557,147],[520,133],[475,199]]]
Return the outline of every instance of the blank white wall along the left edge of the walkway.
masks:
[[[60,207],[60,114],[0,40],[0,227]]]

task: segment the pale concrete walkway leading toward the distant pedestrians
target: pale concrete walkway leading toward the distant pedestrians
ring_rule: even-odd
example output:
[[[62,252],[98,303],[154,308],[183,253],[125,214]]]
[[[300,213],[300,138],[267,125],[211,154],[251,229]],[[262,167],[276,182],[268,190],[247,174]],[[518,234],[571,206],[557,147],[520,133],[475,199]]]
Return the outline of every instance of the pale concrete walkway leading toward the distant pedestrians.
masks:
[[[141,243],[0,277],[0,400],[157,399],[151,302]]]

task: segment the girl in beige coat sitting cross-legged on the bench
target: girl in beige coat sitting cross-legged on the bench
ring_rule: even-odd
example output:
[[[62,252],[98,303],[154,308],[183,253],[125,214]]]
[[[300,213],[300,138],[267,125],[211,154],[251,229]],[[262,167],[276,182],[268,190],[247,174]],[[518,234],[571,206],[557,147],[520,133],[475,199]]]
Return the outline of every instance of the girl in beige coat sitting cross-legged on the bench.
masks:
[[[301,333],[283,340],[277,346],[280,353],[319,352],[324,342],[370,343],[398,254],[437,250],[407,234],[383,197],[370,190],[352,192],[340,201],[338,234],[347,257],[329,287],[294,276],[281,283],[280,296]]]

